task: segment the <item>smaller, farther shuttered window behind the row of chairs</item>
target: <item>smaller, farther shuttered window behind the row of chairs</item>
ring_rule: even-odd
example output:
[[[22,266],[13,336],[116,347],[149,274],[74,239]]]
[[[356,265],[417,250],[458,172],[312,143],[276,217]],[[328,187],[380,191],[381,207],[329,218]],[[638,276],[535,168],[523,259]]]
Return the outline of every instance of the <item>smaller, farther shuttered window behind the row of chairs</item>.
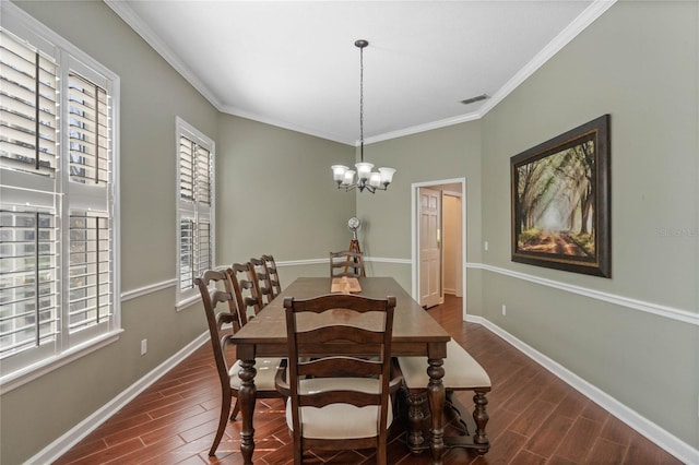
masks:
[[[214,142],[177,118],[178,306],[199,298],[194,278],[214,266]]]

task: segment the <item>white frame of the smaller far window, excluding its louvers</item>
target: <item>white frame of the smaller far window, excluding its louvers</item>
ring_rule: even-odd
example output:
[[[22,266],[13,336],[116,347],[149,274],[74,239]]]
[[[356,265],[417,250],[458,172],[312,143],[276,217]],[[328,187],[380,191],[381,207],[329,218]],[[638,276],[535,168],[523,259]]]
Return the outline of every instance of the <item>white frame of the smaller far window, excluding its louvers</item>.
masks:
[[[185,121],[185,119],[180,118],[180,117],[176,117],[176,121],[175,121],[175,127],[176,127],[176,131],[175,131],[175,147],[176,147],[176,159],[177,159],[177,182],[176,182],[176,190],[175,190],[175,204],[176,204],[176,210],[177,210],[177,214],[176,214],[176,224],[175,224],[175,229],[177,231],[177,238],[176,238],[176,284],[175,284],[175,289],[176,289],[176,302],[175,302],[175,308],[177,309],[177,311],[183,310],[187,307],[190,307],[191,305],[196,303],[197,301],[199,301],[199,299],[201,298],[199,295],[199,290],[197,289],[197,287],[193,284],[193,279],[192,279],[192,284],[189,288],[187,289],[182,289],[180,287],[180,284],[183,279],[182,276],[182,266],[180,265],[180,261],[181,261],[181,257],[182,257],[182,230],[181,230],[181,222],[183,218],[187,217],[192,217],[194,220],[194,227],[193,227],[193,231],[199,230],[198,226],[200,225],[200,222],[198,220],[200,217],[200,214],[202,214],[201,212],[201,207],[200,207],[200,203],[198,202],[197,199],[194,199],[192,202],[188,202],[188,201],[183,201],[181,198],[181,182],[182,182],[182,170],[181,170],[181,151],[180,151],[180,141],[181,138],[187,138],[188,140],[190,140],[191,142],[193,142],[194,144],[197,144],[198,146],[201,146],[203,148],[205,148],[206,151],[209,151],[209,156],[210,156],[210,178],[209,178],[209,191],[210,191],[210,205],[205,208],[206,212],[203,214],[203,216],[205,216],[209,219],[209,252],[211,254],[211,264],[210,264],[210,269],[214,269],[215,267],[215,261],[216,261],[216,181],[215,181],[215,176],[214,174],[216,172],[215,167],[216,167],[216,143],[214,142],[213,139],[209,138],[208,135],[205,135],[203,132],[201,132],[200,130],[198,130],[197,128],[194,128],[192,124],[188,123],[187,121]],[[194,163],[196,165],[196,163]],[[192,190],[196,192],[198,190],[197,188],[197,181],[192,180]],[[193,196],[196,198],[197,194],[194,193]],[[192,251],[192,253],[197,254],[198,257],[198,251],[194,250]],[[200,272],[203,270],[200,270]],[[197,277],[197,269],[192,270],[192,278]]]

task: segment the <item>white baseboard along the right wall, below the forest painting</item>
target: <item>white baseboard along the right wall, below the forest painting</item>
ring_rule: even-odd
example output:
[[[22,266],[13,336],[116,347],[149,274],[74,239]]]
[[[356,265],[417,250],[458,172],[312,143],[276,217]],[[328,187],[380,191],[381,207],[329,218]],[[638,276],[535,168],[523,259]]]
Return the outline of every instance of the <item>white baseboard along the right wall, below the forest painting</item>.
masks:
[[[491,333],[500,336],[522,354],[526,355],[529,358],[550,371],[560,380],[568,383],[574,390],[579,391],[581,394],[590,398],[595,404],[600,405],[602,408],[617,417],[619,420],[624,421],[629,427],[633,428],[640,434],[657,444],[657,446],[667,451],[667,453],[672,454],[677,460],[686,464],[699,464],[699,450],[692,448],[690,444],[687,444],[679,438],[673,436],[665,429],[650,421],[648,418],[641,416],[636,410],[621,404],[609,394],[583,380],[572,371],[568,370],[555,360],[548,358],[532,346],[523,343],[497,324],[483,317],[476,315],[467,315],[466,321],[478,323]]]

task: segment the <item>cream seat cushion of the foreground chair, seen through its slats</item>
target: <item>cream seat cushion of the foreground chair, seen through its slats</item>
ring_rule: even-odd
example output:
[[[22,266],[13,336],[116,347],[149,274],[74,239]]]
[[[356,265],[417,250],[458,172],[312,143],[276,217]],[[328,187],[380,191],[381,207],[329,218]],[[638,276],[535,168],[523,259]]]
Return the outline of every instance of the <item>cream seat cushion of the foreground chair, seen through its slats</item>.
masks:
[[[317,378],[301,380],[301,392],[350,390],[378,393],[378,380],[368,378]],[[377,436],[379,407],[368,405],[355,407],[351,404],[330,404],[322,408],[301,407],[301,429],[304,438],[312,439],[356,439]],[[393,421],[391,398],[388,402],[386,427]],[[292,400],[286,401],[286,425],[294,430]]]

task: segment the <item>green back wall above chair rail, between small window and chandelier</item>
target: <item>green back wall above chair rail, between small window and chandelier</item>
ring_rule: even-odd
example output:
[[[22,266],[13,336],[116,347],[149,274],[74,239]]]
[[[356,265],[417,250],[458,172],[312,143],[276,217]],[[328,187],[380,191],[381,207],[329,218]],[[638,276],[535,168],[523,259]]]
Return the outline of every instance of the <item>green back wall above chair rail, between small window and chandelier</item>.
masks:
[[[351,164],[353,147],[229,115],[220,116],[218,134],[217,264],[263,253],[328,260],[348,246],[355,195],[334,188],[330,166]]]

